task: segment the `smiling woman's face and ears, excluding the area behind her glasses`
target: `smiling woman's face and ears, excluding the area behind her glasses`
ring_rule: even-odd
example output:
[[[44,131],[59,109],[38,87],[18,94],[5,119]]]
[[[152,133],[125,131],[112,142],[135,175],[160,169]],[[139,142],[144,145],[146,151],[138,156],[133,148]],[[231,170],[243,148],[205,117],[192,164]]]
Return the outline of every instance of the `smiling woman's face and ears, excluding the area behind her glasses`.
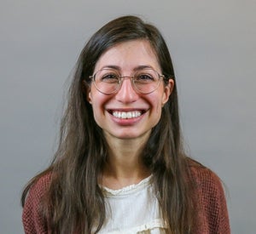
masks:
[[[108,49],[96,62],[95,71],[114,67],[121,76],[131,76],[138,67],[147,66],[161,74],[154,50],[146,40],[119,43]],[[93,84],[88,93],[96,123],[107,140],[147,138],[159,122],[162,106],[172,93],[173,80],[150,94],[140,94],[132,88],[131,80],[124,79],[115,94],[102,94]]]

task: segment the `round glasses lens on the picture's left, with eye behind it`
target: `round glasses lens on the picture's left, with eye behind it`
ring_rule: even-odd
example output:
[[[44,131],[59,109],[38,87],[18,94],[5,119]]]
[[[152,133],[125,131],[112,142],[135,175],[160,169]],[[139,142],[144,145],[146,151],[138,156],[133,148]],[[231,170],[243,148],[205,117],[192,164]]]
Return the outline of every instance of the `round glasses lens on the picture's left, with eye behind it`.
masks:
[[[112,94],[119,89],[119,73],[113,69],[102,69],[94,75],[96,88],[103,94]]]

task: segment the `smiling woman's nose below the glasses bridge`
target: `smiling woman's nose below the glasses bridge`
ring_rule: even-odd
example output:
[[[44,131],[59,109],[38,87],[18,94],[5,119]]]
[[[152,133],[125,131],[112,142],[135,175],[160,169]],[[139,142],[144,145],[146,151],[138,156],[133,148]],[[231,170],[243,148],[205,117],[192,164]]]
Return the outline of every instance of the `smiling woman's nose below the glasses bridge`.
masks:
[[[137,92],[131,84],[131,77],[123,77],[123,82],[118,93],[115,95],[116,100],[124,103],[134,102],[138,98]]]

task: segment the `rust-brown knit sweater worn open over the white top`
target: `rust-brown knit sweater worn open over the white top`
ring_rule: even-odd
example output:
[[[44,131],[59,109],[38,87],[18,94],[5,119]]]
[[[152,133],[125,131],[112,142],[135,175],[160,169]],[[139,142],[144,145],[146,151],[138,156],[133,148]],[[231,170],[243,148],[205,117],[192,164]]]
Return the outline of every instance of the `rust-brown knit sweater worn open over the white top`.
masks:
[[[230,222],[223,186],[216,174],[210,169],[193,165],[191,179],[195,180],[195,204],[197,222],[193,228],[196,234],[229,234]],[[50,174],[41,177],[26,197],[22,221],[26,234],[50,233],[47,221],[40,212],[40,201],[49,186]]]

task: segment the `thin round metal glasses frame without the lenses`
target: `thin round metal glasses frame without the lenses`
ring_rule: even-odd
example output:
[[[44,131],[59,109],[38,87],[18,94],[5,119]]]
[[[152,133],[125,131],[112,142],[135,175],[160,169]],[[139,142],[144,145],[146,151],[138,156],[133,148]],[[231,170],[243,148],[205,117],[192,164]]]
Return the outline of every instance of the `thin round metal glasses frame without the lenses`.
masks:
[[[99,88],[96,86],[96,73],[98,73],[99,71],[104,71],[104,70],[112,70],[112,71],[115,71],[115,72],[119,75],[119,76],[118,76],[118,78],[119,78],[118,86],[117,86],[117,88],[116,88],[115,90],[113,90],[112,92],[102,92],[102,90],[99,89]],[[154,71],[155,74],[157,74],[157,75],[158,75],[158,78],[159,78],[158,83],[157,83],[157,85],[156,85],[156,88],[154,88],[154,90],[151,90],[151,91],[149,91],[149,92],[142,92],[140,89],[138,89],[138,88],[136,87],[136,84],[135,84],[135,82],[134,82],[134,77],[135,77],[135,74],[136,74],[137,71],[135,71],[134,75],[132,75],[132,76],[122,76],[122,75],[119,73],[119,71],[117,71],[117,70],[114,70],[114,69],[111,69],[111,68],[105,68],[105,69],[101,69],[101,70],[96,71],[93,75],[89,76],[89,78],[90,78],[90,80],[92,80],[92,83],[94,84],[94,87],[95,87],[100,93],[102,93],[102,94],[116,94],[116,93],[118,93],[119,90],[120,90],[120,88],[122,87],[123,81],[124,81],[125,79],[130,79],[130,80],[131,80],[131,86],[132,86],[132,88],[133,88],[137,93],[139,93],[139,94],[151,94],[151,93],[153,93],[157,88],[159,88],[160,82],[164,80],[165,75],[160,75],[160,73],[159,73],[158,71],[155,71],[154,69],[151,69],[151,68],[148,68],[148,69],[145,69],[145,70]]]

